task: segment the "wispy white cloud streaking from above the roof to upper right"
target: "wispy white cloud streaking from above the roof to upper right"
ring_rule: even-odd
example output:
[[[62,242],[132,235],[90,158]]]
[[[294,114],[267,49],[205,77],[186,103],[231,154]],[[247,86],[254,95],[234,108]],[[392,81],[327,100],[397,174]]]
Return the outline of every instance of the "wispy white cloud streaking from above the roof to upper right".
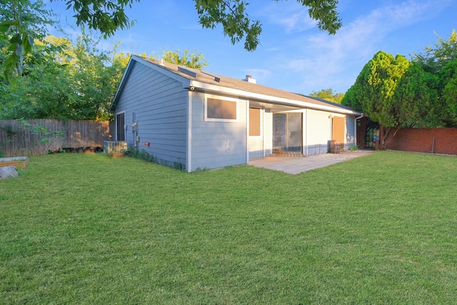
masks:
[[[304,38],[302,36],[299,41],[291,41],[291,44],[294,48],[301,49],[293,54],[303,56],[291,58],[290,54],[284,55],[283,69],[295,74],[294,79],[301,79],[301,86],[307,89],[316,90],[335,85],[347,89],[355,81],[363,64],[376,51],[383,49],[386,39],[393,31],[430,18],[448,3],[447,0],[403,1],[359,17],[343,26],[335,36],[323,32]],[[342,74],[348,77],[342,79]]]

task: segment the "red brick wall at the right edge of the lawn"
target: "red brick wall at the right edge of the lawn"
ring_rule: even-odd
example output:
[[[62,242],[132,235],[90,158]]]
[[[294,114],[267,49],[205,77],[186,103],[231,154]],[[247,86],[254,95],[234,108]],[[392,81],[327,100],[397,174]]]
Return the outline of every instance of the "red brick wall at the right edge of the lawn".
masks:
[[[433,145],[433,137],[435,138]],[[457,128],[403,128],[387,149],[435,154],[457,154]]]

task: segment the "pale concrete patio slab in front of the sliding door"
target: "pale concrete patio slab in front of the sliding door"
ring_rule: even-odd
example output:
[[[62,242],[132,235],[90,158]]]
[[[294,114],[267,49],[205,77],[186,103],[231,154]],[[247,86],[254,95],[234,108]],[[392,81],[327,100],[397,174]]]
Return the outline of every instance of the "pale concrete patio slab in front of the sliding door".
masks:
[[[340,154],[318,154],[313,156],[266,156],[263,159],[251,160],[249,165],[263,169],[284,171],[288,174],[300,174],[303,171],[318,169],[358,156],[371,154],[370,150],[342,151]]]

